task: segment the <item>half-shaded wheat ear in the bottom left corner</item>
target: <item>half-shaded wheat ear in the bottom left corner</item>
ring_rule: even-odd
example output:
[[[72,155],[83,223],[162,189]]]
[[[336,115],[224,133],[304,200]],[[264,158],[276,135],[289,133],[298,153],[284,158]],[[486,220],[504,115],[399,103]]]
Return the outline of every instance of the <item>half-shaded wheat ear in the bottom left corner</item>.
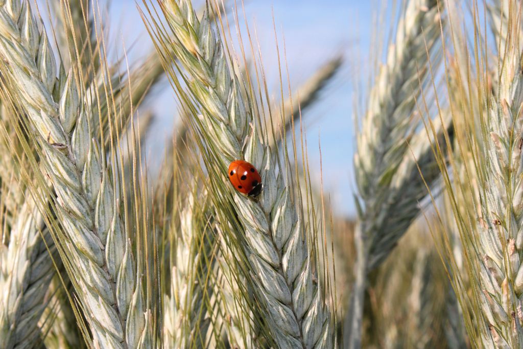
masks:
[[[54,275],[49,253],[56,251],[43,218],[30,198],[17,212],[0,273],[0,348],[31,347],[38,342],[38,320]],[[49,238],[44,242],[40,234]],[[48,251],[48,247],[50,250]]]

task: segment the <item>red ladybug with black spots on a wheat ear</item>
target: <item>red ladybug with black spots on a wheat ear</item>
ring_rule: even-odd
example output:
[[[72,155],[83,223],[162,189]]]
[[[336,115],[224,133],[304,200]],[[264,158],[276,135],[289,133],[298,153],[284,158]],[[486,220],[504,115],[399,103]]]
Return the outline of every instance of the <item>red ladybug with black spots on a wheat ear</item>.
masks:
[[[248,196],[261,193],[261,177],[251,163],[234,160],[229,165],[229,180],[238,192]]]

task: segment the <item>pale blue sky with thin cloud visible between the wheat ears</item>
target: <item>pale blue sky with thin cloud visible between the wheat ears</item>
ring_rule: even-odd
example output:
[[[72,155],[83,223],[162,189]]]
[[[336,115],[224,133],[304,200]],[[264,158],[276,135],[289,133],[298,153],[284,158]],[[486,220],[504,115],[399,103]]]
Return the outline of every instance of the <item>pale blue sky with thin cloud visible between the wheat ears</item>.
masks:
[[[317,168],[312,179],[319,183],[320,138],[324,189],[331,194],[335,211],[345,215],[354,215],[354,185],[351,184],[355,143],[353,85],[357,82],[354,79],[361,77],[354,74],[357,70],[355,63],[362,61],[360,52],[368,52],[369,33],[372,31],[369,3],[356,0],[249,0],[245,4],[249,25],[255,26],[258,33],[267,80],[275,98],[279,93],[279,78],[273,11],[280,51],[285,36],[293,89],[334,54],[345,54],[342,72],[324,89],[320,102],[303,114],[310,166]],[[134,1],[113,0],[110,18],[112,35],[127,49],[131,48],[131,60],[150,52],[152,44]],[[157,116],[153,133],[166,137],[177,119],[175,98],[166,82],[156,89],[149,107]],[[156,142],[149,148],[147,156],[161,153],[162,147],[161,142]]]

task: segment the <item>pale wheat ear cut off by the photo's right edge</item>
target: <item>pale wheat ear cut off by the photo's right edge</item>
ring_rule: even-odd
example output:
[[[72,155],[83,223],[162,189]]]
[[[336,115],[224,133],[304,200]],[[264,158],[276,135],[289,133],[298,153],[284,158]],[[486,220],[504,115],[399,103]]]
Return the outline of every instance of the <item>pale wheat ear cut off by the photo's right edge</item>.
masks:
[[[487,159],[481,164],[481,211],[477,224],[480,304],[478,324],[484,345],[523,346],[523,162],[521,161],[521,52],[512,46],[505,55],[496,96],[490,100],[482,132]]]

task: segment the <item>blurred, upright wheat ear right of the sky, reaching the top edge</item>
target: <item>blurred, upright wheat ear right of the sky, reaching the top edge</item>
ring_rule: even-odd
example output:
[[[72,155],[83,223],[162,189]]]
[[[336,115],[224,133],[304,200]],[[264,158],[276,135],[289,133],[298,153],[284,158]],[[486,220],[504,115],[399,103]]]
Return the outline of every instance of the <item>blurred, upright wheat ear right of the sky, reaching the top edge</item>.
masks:
[[[383,256],[378,254],[388,254],[391,246],[402,236],[413,217],[410,211],[417,206],[415,196],[401,196],[401,190],[397,188],[409,183],[413,172],[418,171],[406,140],[419,122],[416,119],[419,118],[416,98],[420,94],[419,81],[423,84],[428,75],[426,47],[430,54],[439,35],[437,1],[409,1],[398,25],[396,44],[390,48],[387,64],[371,90],[368,111],[362,120],[355,165],[359,194],[365,203],[360,225],[371,260],[376,260],[370,268],[383,260]],[[420,140],[420,144],[426,143],[423,141]],[[405,160],[406,157],[410,161]],[[409,167],[408,170],[402,170],[405,166]],[[425,166],[420,167],[423,173]],[[384,188],[391,184],[393,190],[385,193]],[[423,183],[418,183],[419,186],[425,190]],[[397,198],[388,200],[391,196]],[[397,217],[399,222],[390,225],[388,211],[393,209],[391,206],[396,206],[397,200],[402,199],[411,199],[412,202],[397,208],[404,213],[395,212],[401,217]],[[402,222],[405,215],[411,217],[406,224]]]

